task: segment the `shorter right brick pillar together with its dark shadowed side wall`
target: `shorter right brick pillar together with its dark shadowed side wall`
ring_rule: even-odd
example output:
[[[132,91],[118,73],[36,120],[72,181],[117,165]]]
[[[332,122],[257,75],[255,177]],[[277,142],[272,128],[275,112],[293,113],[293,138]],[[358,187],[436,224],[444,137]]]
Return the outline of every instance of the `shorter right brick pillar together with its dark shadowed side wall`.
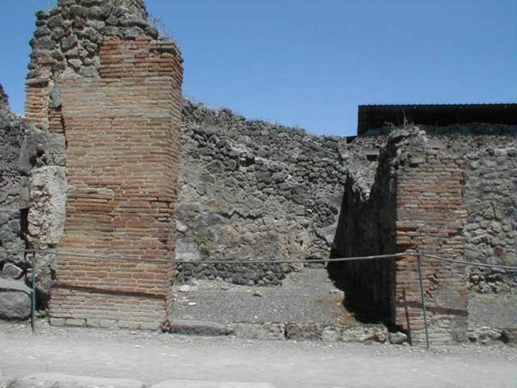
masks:
[[[425,340],[417,248],[464,258],[465,167],[460,154],[444,153],[423,132],[409,129],[388,141],[369,196],[351,182],[345,187],[334,256],[408,255],[332,263],[330,276],[343,283],[350,306],[358,305],[358,312],[367,316],[381,314],[406,330],[413,344]],[[421,263],[432,343],[465,340],[465,266],[428,258]]]

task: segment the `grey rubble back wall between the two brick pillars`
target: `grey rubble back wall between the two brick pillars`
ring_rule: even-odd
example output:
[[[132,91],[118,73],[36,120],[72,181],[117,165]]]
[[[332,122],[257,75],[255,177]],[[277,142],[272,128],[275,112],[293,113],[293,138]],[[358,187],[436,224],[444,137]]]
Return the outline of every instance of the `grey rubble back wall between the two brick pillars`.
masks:
[[[354,166],[373,180],[379,139],[311,136],[185,102],[177,208],[179,259],[329,256],[342,187]],[[301,265],[183,264],[179,279],[278,284]]]

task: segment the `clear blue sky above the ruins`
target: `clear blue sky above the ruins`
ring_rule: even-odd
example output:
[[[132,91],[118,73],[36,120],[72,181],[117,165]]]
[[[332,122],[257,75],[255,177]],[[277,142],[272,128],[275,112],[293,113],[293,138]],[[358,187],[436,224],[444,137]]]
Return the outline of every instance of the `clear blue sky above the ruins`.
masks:
[[[0,83],[23,113],[34,13],[2,0]],[[185,58],[184,95],[355,135],[357,106],[517,102],[517,0],[147,0]]]

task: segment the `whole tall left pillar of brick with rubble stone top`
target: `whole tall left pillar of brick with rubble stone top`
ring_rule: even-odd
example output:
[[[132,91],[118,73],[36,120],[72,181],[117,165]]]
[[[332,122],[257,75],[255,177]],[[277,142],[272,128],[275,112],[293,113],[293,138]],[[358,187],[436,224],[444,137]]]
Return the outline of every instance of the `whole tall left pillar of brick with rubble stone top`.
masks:
[[[30,246],[174,258],[181,55],[140,0],[62,0],[38,12],[22,153]],[[52,324],[157,329],[169,263],[37,257]],[[53,281],[54,279],[54,281]]]

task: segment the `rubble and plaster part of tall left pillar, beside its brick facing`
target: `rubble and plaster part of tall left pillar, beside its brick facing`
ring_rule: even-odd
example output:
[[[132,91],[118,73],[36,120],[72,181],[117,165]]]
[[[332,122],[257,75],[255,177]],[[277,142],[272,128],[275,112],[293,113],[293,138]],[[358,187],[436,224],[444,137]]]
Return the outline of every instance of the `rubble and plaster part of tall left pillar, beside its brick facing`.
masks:
[[[158,38],[146,16],[141,0],[60,0],[57,8],[36,13],[25,102],[31,127],[20,157],[27,247],[55,248],[64,232],[67,139],[58,82],[99,78],[106,38]],[[37,255],[38,306],[47,303],[55,260],[52,255]]]

